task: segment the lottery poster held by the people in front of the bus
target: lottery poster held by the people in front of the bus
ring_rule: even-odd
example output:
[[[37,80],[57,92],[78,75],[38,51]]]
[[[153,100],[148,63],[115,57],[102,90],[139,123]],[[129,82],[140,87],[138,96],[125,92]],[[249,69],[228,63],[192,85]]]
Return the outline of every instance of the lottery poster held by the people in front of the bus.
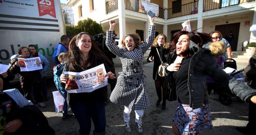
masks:
[[[40,57],[18,58],[18,63],[21,72],[43,69]]]

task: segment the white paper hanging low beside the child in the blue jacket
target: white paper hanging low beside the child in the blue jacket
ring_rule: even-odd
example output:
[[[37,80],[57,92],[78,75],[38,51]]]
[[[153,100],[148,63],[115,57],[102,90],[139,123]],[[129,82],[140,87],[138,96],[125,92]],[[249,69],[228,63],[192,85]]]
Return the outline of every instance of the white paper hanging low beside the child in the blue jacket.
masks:
[[[58,113],[63,110],[64,98],[61,96],[59,91],[53,91],[55,113]]]

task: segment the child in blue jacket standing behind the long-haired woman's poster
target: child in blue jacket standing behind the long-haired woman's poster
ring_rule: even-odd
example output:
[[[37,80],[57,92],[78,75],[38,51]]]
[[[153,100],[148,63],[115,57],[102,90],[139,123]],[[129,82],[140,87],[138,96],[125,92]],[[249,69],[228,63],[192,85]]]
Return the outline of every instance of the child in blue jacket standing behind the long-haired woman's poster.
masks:
[[[67,53],[60,53],[58,55],[58,60],[60,61],[60,64],[56,65],[56,67],[54,68],[54,82],[55,82],[56,88],[57,88],[57,90],[59,90],[59,92],[65,99],[63,111],[62,111],[62,113],[63,113],[62,120],[66,120],[72,116],[72,115],[68,114],[67,91],[65,90],[65,87],[62,87],[62,85],[59,84],[60,76],[63,72],[63,68],[65,65],[64,62],[66,61],[66,59],[67,59]]]

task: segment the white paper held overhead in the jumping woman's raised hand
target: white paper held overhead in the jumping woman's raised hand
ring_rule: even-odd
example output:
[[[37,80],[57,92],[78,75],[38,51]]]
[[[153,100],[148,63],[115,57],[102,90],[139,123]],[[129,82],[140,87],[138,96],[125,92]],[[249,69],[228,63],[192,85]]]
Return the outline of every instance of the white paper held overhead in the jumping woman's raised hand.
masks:
[[[139,9],[146,11],[148,13],[150,10],[155,13],[155,16],[158,17],[159,14],[159,6],[155,3],[148,2],[146,0],[140,0],[141,5],[139,4]],[[142,12],[142,11],[140,11]]]

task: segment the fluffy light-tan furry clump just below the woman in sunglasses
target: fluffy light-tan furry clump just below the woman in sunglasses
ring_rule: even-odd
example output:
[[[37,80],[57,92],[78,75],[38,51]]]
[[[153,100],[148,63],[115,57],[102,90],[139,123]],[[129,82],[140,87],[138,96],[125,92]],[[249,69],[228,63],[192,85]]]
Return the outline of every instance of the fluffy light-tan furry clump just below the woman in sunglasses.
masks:
[[[210,53],[215,57],[219,58],[226,52],[226,44],[225,42],[212,42],[209,45]]]

